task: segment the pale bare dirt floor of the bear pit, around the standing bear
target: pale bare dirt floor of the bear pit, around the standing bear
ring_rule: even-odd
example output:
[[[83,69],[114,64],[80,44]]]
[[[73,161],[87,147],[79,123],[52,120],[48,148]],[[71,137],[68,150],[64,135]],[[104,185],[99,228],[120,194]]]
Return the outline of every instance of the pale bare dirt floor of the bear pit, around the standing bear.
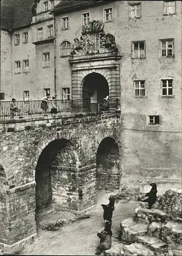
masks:
[[[38,238],[27,245],[19,255],[94,255],[99,244],[97,232],[104,229],[102,204],[108,203],[113,193],[100,192],[96,209],[90,211],[89,219],[62,226],[57,231],[38,230]],[[135,201],[115,202],[112,217],[113,237],[118,237],[120,222],[134,215],[138,206]]]

